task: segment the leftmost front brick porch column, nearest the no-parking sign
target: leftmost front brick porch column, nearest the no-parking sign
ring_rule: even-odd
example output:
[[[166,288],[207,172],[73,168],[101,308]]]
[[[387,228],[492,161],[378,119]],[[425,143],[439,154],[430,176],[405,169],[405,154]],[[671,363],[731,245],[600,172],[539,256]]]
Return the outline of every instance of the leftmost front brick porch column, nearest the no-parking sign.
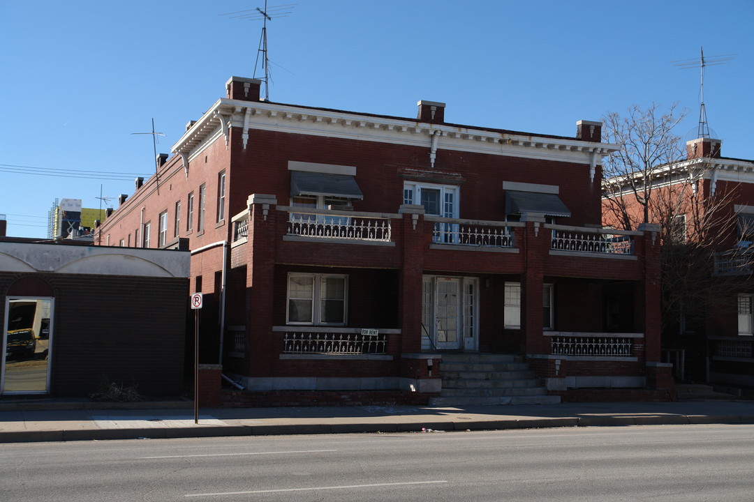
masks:
[[[247,287],[247,375],[268,376],[278,348],[272,333],[272,291],[274,291],[275,233],[278,214],[274,195],[249,196],[249,263]]]

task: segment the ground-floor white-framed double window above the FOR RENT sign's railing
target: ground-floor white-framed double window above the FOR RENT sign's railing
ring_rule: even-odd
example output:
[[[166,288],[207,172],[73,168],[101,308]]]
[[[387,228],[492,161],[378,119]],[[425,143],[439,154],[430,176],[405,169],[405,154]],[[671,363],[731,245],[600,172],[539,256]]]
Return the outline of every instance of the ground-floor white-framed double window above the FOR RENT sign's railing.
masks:
[[[346,323],[347,275],[290,273],[287,296],[288,324]]]

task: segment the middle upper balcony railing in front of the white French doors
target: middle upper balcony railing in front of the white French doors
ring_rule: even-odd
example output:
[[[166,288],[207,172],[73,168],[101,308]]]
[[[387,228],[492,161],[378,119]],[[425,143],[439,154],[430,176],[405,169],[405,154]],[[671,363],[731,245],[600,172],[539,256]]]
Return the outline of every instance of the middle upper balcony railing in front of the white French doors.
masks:
[[[485,248],[513,248],[513,226],[506,221],[477,221],[457,218],[426,217],[434,222],[432,242]]]

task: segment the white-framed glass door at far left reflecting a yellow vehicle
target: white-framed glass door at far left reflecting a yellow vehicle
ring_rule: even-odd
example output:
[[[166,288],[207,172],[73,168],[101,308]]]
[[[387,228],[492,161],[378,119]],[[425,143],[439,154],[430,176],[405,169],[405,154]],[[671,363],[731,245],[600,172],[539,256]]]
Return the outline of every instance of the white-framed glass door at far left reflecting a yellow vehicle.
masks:
[[[53,302],[32,297],[6,300],[0,394],[50,391]]]

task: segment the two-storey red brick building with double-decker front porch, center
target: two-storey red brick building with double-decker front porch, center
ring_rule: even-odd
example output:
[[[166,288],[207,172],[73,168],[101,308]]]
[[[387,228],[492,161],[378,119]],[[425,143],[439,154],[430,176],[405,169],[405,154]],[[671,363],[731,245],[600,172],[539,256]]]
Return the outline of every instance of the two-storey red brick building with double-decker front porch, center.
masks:
[[[664,388],[656,229],[602,230],[600,136],[266,102],[234,77],[96,241],[189,239],[201,359],[253,391]]]

